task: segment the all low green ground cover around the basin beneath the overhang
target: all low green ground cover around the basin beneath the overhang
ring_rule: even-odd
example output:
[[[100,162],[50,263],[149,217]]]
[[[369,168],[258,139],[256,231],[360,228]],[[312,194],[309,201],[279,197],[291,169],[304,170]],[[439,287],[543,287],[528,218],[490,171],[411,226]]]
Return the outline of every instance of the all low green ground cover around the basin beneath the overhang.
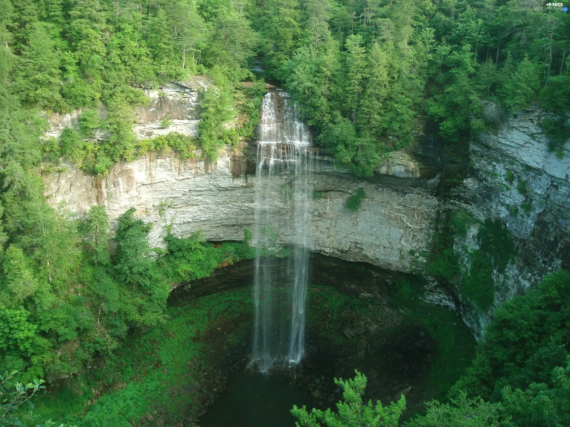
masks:
[[[442,397],[473,359],[474,341],[456,314],[421,301],[417,285],[409,286],[413,296],[400,295],[394,301],[398,310],[403,310],[404,326],[424,327],[437,343],[438,355],[431,363],[425,387],[433,397]],[[340,319],[348,307],[353,314],[368,315],[368,304],[332,286],[311,285],[307,324],[318,322],[319,330],[333,345],[344,344],[343,332],[335,330],[332,321]],[[332,314],[331,322],[320,321],[318,314],[323,310]],[[197,358],[207,371],[220,363],[231,348],[243,345],[252,312],[251,288],[232,289],[192,299],[187,305],[167,307],[168,322],[137,330],[129,335],[123,350],[109,354],[104,364],[94,362],[87,373],[72,376],[59,389],[44,392],[37,401],[36,413],[40,420],[51,418],[80,427],[127,427],[131,419],[138,421],[158,407],[170,414],[180,413],[189,397],[169,393],[168,388],[201,380],[194,365],[187,362]],[[207,356],[212,343],[205,338],[205,332],[222,323],[232,327],[227,330],[223,348],[216,349],[219,357],[214,360]],[[103,394],[94,394],[95,390]]]

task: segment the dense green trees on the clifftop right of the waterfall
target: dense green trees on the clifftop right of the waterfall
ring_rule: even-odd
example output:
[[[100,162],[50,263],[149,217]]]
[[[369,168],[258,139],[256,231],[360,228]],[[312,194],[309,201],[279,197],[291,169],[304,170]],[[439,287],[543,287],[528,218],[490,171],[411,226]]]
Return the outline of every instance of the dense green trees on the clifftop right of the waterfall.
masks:
[[[539,97],[545,108],[567,111],[565,15],[546,19],[514,2],[402,8],[361,1],[252,8],[264,66],[285,82],[340,165],[371,174],[386,151],[416,140],[426,121],[460,146]],[[515,28],[526,28],[524,36]]]

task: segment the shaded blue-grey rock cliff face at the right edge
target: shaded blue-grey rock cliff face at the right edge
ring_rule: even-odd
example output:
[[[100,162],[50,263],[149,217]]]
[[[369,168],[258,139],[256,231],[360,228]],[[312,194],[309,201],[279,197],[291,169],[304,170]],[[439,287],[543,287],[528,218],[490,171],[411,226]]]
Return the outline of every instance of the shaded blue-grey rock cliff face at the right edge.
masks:
[[[483,221],[499,218],[512,233],[517,254],[503,274],[495,272],[495,304],[523,292],[544,274],[570,268],[570,146],[559,158],[548,149],[538,110],[508,117],[495,133],[480,133],[471,143],[473,173],[451,191],[458,208]],[[477,248],[478,225],[456,250]],[[481,330],[491,312],[471,315]]]

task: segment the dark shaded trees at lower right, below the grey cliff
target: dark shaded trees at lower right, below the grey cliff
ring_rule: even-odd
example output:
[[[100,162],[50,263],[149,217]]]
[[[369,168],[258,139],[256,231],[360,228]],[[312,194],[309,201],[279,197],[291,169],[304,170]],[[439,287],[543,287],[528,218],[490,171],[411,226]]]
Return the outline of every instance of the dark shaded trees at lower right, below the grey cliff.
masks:
[[[538,288],[517,295],[495,310],[472,367],[455,391],[499,400],[507,385],[524,390],[531,383],[553,386],[552,370],[568,355],[570,273],[559,270]]]

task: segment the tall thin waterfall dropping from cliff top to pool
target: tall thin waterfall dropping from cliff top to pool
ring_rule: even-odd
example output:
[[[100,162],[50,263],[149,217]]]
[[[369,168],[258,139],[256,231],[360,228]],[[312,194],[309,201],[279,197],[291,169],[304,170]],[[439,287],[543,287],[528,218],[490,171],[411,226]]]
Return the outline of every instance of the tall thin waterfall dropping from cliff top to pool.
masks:
[[[310,132],[286,92],[268,92],[261,109],[255,178],[258,254],[252,362],[267,371],[275,362],[298,363],[303,355],[313,157],[308,150]],[[287,223],[276,223],[276,218],[284,216]],[[283,237],[295,247],[283,271],[264,254],[278,247],[279,233],[285,230],[288,234]]]

